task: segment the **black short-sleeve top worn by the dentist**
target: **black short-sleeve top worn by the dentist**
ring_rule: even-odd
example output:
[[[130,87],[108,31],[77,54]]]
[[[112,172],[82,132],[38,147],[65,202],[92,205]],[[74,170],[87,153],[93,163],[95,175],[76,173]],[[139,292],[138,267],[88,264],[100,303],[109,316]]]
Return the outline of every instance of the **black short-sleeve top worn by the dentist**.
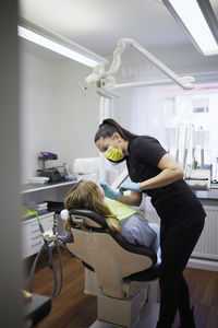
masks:
[[[128,152],[126,165],[130,178],[134,183],[142,183],[158,175],[161,172],[158,163],[167,153],[159,141],[149,136],[131,139]],[[152,198],[160,219],[173,221],[175,230],[186,229],[206,215],[199,200],[183,179],[143,192]]]

